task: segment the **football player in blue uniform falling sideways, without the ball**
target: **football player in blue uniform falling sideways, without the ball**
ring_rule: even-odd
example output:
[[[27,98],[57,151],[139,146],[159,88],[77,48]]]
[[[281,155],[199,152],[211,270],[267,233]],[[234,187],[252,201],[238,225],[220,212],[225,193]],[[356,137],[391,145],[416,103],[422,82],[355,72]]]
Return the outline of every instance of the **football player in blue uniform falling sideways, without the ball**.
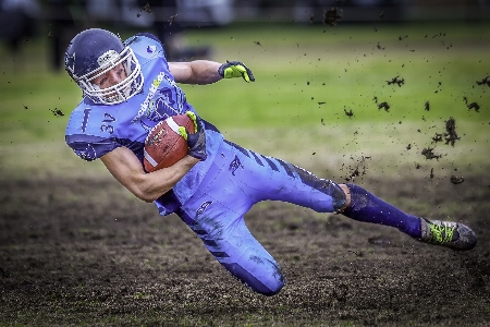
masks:
[[[358,185],[336,184],[226,141],[199,118],[179,84],[232,77],[254,82],[242,62],[168,62],[151,34],[123,41],[109,31],[93,28],[73,38],[65,69],[83,92],[68,123],[68,145],[85,160],[100,158],[135,196],[154,202],[160,215],[176,214],[225,269],[258,293],[273,295],[284,286],[279,264],[244,222],[244,215],[260,201],[340,213],[453,250],[470,250],[477,243],[476,234],[463,223],[405,214]],[[172,167],[146,172],[148,132],[159,121],[184,113],[197,129],[183,135],[188,155]]]

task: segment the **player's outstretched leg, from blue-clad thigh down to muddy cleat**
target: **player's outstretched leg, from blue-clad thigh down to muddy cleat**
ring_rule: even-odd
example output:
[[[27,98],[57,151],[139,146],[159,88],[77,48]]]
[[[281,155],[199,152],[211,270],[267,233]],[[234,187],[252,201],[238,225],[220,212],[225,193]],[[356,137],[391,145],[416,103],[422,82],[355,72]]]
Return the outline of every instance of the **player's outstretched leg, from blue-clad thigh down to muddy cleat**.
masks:
[[[235,180],[256,202],[277,199],[319,213],[342,211],[348,218],[395,227],[419,241],[454,250],[470,250],[476,245],[475,233],[462,223],[429,221],[405,214],[358,185],[341,187],[297,166],[234,146],[238,149],[237,164],[231,165],[237,167]],[[254,161],[262,169],[254,168]]]

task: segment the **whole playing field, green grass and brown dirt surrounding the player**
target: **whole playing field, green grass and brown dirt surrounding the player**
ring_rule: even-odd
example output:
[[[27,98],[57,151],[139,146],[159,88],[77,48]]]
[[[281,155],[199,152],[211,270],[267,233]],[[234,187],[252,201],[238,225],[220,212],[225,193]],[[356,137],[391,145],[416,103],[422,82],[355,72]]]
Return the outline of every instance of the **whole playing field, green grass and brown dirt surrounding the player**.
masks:
[[[289,280],[274,298],[235,282],[182,221],[161,219],[68,148],[81,92],[48,70],[48,33],[15,57],[2,45],[0,326],[485,326],[490,84],[477,82],[490,76],[489,27],[188,32],[191,45],[211,45],[215,60],[241,60],[256,76],[183,86],[226,138],[339,182],[359,173],[356,182],[394,205],[457,217],[480,238],[469,253],[444,252],[383,227],[260,203],[249,228]],[[387,82],[394,77],[404,84]],[[451,118],[460,138],[434,143]],[[427,148],[441,157],[427,159]]]

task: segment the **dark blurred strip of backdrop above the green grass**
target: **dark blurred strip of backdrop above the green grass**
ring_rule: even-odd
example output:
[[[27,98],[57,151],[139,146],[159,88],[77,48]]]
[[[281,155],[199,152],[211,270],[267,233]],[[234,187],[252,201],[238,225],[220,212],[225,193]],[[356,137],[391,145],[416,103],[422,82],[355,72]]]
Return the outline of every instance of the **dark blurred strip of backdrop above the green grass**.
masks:
[[[156,34],[170,60],[210,58],[208,45],[191,47],[186,29],[240,23],[343,24],[490,20],[490,0],[0,0],[0,40],[12,53],[39,36],[49,37],[52,70],[62,69],[70,39],[88,27]],[[334,23],[334,22],[333,22]]]

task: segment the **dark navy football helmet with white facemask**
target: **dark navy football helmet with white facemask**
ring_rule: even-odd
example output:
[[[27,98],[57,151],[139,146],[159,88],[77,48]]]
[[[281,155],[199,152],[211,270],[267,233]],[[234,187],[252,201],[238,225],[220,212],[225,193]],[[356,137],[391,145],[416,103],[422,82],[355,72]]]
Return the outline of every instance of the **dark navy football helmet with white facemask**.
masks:
[[[123,64],[126,78],[107,88],[91,81]],[[77,34],[64,55],[64,69],[82,88],[84,96],[102,105],[121,104],[136,95],[143,87],[142,66],[128,45],[115,34],[90,28]]]

